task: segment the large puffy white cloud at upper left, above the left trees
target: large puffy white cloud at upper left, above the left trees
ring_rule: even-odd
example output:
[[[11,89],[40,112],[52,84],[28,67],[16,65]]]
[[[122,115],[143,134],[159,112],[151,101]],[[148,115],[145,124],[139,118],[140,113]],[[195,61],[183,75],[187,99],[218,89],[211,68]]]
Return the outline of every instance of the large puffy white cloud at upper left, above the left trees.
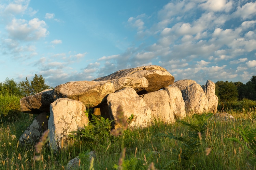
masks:
[[[46,23],[38,18],[29,21],[25,19],[12,19],[6,26],[9,36],[13,39],[32,41],[48,35]]]

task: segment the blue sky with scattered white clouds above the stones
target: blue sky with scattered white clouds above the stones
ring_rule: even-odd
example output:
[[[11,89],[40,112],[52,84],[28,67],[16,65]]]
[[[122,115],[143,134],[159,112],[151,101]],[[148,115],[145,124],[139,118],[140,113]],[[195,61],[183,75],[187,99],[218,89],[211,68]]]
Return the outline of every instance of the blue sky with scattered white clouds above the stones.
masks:
[[[175,80],[256,75],[252,0],[0,0],[0,82],[53,87],[144,65]]]

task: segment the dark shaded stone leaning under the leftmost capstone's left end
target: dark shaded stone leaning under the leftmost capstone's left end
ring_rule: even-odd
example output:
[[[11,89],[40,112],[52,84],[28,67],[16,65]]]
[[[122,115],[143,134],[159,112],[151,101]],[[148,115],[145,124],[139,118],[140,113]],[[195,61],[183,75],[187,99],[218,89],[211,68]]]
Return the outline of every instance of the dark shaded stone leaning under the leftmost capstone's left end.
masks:
[[[43,132],[46,131],[47,129],[48,120],[46,118],[46,112],[43,112],[34,118],[32,124],[19,137],[20,144],[35,145],[35,143],[39,141]]]

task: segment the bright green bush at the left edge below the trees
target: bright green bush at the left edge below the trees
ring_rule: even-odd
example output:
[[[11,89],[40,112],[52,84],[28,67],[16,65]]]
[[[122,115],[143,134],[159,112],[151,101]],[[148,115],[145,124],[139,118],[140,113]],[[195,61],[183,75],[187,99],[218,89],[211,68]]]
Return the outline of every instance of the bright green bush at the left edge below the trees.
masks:
[[[9,93],[0,93],[1,118],[12,118],[20,113],[20,97]]]

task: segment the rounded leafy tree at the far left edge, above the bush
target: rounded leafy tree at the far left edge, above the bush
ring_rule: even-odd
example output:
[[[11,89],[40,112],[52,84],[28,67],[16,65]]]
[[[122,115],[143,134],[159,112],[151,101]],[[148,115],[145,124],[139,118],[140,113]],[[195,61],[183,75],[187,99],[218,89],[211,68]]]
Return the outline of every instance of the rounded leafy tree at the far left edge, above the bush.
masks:
[[[4,82],[0,83],[0,91],[3,94],[11,94],[16,96],[22,96],[22,92],[18,84],[13,79],[6,78]]]

